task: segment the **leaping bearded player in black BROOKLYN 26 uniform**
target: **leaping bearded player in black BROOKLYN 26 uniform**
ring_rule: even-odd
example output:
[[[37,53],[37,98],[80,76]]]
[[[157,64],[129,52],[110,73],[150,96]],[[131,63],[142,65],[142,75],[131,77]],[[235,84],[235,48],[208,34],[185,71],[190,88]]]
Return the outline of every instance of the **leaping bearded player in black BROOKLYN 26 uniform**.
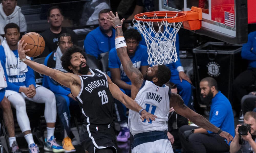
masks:
[[[70,73],[51,69],[26,59],[26,44],[20,41],[20,60],[38,73],[48,75],[60,84],[70,88],[84,115],[80,142],[88,152],[113,153],[116,150],[116,136],[112,127],[113,97],[127,108],[140,112],[142,121],[155,120],[156,116],[146,112],[134,100],[125,95],[111,79],[98,69],[90,69],[85,52],[77,46],[70,47],[61,57],[62,67]],[[112,97],[113,95],[113,97]]]

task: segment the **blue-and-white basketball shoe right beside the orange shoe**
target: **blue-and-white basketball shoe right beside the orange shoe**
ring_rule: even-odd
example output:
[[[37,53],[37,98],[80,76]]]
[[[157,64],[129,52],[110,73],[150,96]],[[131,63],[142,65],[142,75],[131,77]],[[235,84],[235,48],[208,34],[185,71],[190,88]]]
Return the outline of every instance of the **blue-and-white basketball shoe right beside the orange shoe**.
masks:
[[[46,141],[45,139],[45,146],[44,146],[45,151],[52,151],[54,153],[58,152],[65,152],[65,150],[57,144],[56,138],[54,136],[51,136],[51,138]]]

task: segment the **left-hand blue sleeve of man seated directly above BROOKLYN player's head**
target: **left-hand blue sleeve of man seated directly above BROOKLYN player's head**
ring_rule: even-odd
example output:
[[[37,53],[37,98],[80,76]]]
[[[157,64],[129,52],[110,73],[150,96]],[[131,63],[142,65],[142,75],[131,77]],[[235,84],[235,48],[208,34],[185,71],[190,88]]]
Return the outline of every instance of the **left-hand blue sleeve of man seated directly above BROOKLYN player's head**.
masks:
[[[88,33],[88,35],[86,36],[86,38],[84,40],[84,49],[85,49],[86,54],[90,54],[90,55],[96,57],[96,59],[99,58],[99,48],[97,45],[97,41],[90,33]]]

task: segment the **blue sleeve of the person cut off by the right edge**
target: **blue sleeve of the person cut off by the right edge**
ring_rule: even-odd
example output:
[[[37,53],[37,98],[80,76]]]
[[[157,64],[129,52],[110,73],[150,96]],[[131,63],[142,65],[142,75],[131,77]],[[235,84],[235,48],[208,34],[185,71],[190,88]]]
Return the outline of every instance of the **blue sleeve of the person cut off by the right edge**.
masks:
[[[248,34],[248,41],[246,44],[243,44],[242,51],[241,51],[242,58],[251,60],[251,61],[256,60],[256,48],[255,47],[253,48],[253,40],[254,40],[253,34],[254,33]]]

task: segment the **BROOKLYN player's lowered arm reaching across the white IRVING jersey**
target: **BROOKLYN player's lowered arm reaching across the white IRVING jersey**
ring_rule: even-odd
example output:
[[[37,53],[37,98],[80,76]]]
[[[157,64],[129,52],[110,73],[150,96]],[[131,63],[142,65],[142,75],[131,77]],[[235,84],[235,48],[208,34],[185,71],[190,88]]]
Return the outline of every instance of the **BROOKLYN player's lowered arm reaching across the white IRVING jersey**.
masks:
[[[113,95],[113,97],[119,101],[121,101],[121,103],[123,103],[127,108],[134,110],[136,112],[139,112],[142,107],[140,105],[138,105],[138,103],[136,103],[131,97],[125,95],[120,88],[114,84],[111,79],[108,77],[108,83],[109,83],[109,90],[111,92],[111,94]],[[149,119],[151,119],[152,121],[155,120],[155,118],[157,118],[155,115],[148,113],[146,110],[143,110],[141,112],[141,120],[144,121],[144,119],[148,120],[150,122]]]

